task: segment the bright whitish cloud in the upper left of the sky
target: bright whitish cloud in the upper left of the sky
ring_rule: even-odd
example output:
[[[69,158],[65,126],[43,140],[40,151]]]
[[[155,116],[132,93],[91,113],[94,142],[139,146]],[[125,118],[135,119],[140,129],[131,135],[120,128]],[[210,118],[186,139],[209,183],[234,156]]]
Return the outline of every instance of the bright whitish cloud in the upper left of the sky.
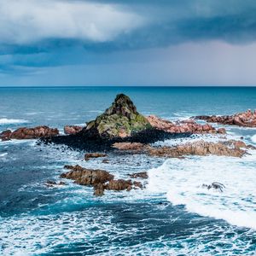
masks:
[[[0,43],[46,39],[112,41],[143,26],[140,15],[116,4],[64,0],[0,0]]]

